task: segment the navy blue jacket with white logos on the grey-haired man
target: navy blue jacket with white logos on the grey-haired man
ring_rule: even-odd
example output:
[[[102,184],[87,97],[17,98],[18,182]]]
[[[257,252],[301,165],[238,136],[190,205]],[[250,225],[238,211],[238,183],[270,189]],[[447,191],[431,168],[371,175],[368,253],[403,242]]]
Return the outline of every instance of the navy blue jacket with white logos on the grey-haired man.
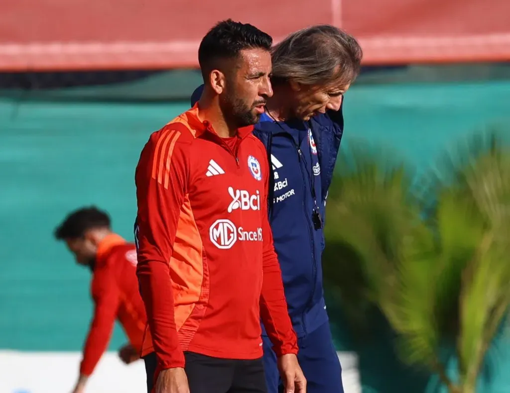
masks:
[[[192,106],[201,90],[202,86],[193,93]],[[300,337],[328,321],[322,288],[324,234],[314,226],[313,213],[324,222],[342,132],[342,109],[307,123],[274,122],[264,114],[253,131],[273,168],[269,218],[289,315]]]

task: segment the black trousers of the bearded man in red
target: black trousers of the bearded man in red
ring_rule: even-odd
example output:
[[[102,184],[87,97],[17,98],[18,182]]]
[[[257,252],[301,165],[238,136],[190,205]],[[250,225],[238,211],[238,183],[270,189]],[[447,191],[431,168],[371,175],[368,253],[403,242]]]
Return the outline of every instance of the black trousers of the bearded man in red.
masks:
[[[184,370],[190,393],[267,393],[262,358],[254,360],[220,359],[185,352]],[[147,392],[154,388],[156,354],[143,358],[147,373]]]

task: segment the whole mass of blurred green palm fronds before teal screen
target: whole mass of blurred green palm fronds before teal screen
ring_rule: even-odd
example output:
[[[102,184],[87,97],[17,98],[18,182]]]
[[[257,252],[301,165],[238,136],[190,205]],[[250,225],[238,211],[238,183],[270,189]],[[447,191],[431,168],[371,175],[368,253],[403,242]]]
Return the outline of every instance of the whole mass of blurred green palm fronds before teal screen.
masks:
[[[325,282],[358,322],[379,308],[404,360],[439,373],[450,392],[472,391],[510,306],[510,149],[495,133],[476,136],[419,197],[396,157],[370,145],[343,150],[327,204]],[[458,384],[439,355],[445,340],[456,344]]]

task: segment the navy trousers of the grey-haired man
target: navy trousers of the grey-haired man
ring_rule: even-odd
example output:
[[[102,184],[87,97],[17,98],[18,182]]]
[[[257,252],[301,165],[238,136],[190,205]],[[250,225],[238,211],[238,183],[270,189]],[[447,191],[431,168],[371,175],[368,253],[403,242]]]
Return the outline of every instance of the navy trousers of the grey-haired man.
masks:
[[[276,355],[268,337],[264,340],[264,368],[269,393],[284,391],[276,365]],[[307,393],[344,393],[342,368],[333,346],[329,324],[325,323],[298,339],[297,359],[307,379]]]

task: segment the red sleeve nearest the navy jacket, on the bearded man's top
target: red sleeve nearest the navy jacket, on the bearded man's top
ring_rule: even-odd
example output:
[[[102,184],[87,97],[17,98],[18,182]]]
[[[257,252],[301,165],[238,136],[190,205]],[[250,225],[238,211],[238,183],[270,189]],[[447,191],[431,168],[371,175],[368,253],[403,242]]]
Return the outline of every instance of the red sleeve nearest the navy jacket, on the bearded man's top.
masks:
[[[297,354],[297,337],[287,310],[282,271],[273,246],[273,235],[267,215],[269,165],[266,164],[265,190],[261,204],[263,233],[263,277],[260,299],[261,319],[273,344],[276,356]]]

